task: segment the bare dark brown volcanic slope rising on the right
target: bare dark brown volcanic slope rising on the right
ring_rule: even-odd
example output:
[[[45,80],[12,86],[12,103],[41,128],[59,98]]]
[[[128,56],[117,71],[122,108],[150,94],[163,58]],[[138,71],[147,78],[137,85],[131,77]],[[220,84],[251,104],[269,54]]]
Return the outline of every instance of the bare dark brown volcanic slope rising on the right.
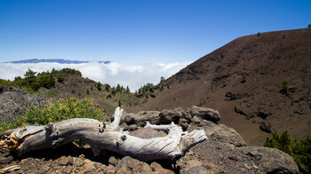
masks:
[[[287,94],[281,91],[283,81],[289,83]],[[262,145],[266,132],[275,130],[306,138],[311,134],[311,28],[237,38],[160,85],[170,88],[138,109],[213,107],[220,122],[251,145]]]

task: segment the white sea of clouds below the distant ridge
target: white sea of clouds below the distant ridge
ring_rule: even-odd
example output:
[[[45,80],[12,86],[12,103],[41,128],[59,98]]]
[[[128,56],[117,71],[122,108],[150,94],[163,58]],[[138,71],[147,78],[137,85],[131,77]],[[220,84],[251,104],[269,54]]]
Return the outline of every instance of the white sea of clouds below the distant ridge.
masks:
[[[138,90],[146,83],[157,84],[161,76],[168,78],[179,72],[191,62],[184,63],[149,63],[143,65],[124,65],[117,62],[103,64],[90,62],[82,64],[60,64],[60,63],[0,63],[0,78],[14,80],[15,76],[25,74],[28,68],[36,72],[51,71],[52,68],[61,69],[64,67],[75,68],[81,71],[84,77],[100,83],[109,83],[116,86],[118,83],[124,87],[129,86],[131,91]]]

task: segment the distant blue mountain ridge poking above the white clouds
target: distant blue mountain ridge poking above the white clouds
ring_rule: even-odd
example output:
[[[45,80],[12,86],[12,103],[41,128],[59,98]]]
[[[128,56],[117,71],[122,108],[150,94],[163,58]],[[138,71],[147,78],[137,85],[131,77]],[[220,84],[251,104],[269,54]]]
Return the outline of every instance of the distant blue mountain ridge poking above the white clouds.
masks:
[[[80,61],[80,60],[70,60],[70,59],[23,59],[16,61],[7,61],[5,63],[60,63],[60,64],[82,64],[90,63],[91,61]],[[97,61],[98,63],[109,64],[111,61]]]

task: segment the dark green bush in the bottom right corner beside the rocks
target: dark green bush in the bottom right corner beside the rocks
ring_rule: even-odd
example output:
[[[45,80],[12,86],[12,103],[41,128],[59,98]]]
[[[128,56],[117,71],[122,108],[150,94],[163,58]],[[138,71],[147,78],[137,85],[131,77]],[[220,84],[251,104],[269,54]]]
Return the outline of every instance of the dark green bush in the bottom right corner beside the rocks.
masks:
[[[311,172],[311,136],[299,142],[297,139],[292,140],[287,131],[284,131],[282,135],[277,132],[272,135],[272,138],[267,138],[264,146],[277,148],[290,154],[301,173]]]

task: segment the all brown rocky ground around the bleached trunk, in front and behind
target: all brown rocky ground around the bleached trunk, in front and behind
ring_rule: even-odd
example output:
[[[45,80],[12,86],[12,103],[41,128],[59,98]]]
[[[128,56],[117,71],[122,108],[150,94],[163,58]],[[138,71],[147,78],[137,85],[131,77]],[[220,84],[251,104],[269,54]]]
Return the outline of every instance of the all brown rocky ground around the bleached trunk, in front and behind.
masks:
[[[140,138],[166,135],[164,131],[144,128],[148,121],[153,124],[178,123],[187,131],[203,129],[209,139],[193,146],[176,161],[147,163],[110,152],[93,158],[87,146],[68,145],[75,153],[82,154],[70,154],[73,152],[63,150],[66,152],[64,154],[60,149],[66,147],[60,147],[52,152],[45,151],[46,156],[54,156],[50,156],[51,159],[44,159],[44,153],[40,153],[35,158],[26,156],[18,162],[12,159],[5,161],[10,155],[3,153],[2,162],[8,164],[2,164],[1,167],[19,165],[21,173],[299,173],[297,164],[289,154],[274,148],[247,146],[234,129],[219,123],[219,112],[210,108],[178,107],[162,112],[124,114],[123,118],[124,130]],[[88,151],[90,155],[86,153]],[[33,162],[36,165],[31,164]]]

